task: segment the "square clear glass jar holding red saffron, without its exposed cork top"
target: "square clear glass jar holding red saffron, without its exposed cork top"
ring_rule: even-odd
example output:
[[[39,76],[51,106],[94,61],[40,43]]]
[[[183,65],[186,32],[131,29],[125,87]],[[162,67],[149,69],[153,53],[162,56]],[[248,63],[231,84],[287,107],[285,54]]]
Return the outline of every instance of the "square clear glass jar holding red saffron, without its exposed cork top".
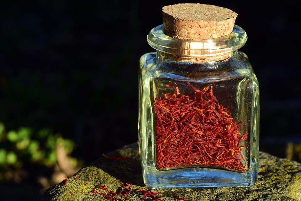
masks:
[[[251,186],[258,175],[259,88],[246,32],[182,40],[153,28],[140,58],[139,146],[152,188]]]

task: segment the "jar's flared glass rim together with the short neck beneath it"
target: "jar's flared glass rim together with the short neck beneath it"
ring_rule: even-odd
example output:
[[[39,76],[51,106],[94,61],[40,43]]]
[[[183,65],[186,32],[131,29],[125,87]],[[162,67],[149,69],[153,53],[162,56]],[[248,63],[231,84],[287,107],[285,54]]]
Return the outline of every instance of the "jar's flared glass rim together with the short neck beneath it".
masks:
[[[234,25],[232,33],[219,38],[177,39],[165,35],[161,24],[150,31],[147,35],[147,42],[159,51],[158,57],[163,59],[190,63],[212,63],[229,60],[236,50],[244,46],[247,38],[246,32],[241,27]]]

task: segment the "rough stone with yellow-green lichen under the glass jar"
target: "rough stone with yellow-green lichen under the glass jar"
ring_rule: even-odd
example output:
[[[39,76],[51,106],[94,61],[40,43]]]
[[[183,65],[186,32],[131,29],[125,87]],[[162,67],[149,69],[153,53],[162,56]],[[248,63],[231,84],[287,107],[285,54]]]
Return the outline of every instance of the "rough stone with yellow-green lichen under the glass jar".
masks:
[[[137,191],[145,187],[142,179],[138,144],[131,144],[109,153],[110,156],[127,156],[135,159],[109,160],[105,157],[92,165],[82,168],[70,177],[64,186],[64,181],[47,189],[40,201],[94,201],[108,200],[101,194],[92,194],[98,185],[107,185],[108,189],[117,193],[118,200],[144,200],[143,193]],[[132,192],[121,198],[118,195],[120,187],[126,180],[133,184]],[[280,159],[267,153],[259,155],[259,179],[252,187],[219,187],[219,188],[185,188],[185,189],[148,189],[159,194],[161,200],[177,200],[176,195],[185,200],[300,200],[301,201],[301,164],[287,159]],[[101,193],[106,193],[100,190]],[[125,191],[124,191],[125,192]],[[152,200],[152,199],[149,199]]]

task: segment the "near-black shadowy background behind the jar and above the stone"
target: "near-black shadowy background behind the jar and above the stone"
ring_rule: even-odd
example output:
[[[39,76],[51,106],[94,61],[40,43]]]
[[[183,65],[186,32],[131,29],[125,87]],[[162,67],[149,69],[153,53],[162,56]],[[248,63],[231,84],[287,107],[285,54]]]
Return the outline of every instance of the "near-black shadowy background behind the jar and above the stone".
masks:
[[[239,14],[249,37],[241,51],[260,84],[261,150],[300,143],[300,5],[189,2]],[[85,164],[137,141],[138,60],[154,51],[146,35],[162,24],[161,8],[175,3],[183,2],[2,2],[0,122],[60,132]]]

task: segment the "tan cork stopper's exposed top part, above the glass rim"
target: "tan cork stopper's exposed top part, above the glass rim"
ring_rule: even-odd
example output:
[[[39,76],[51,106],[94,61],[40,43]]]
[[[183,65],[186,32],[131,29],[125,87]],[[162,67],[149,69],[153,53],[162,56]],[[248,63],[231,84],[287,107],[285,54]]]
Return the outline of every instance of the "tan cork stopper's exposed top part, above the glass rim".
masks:
[[[212,39],[232,32],[237,14],[227,8],[179,3],[162,8],[164,33],[187,40]]]

